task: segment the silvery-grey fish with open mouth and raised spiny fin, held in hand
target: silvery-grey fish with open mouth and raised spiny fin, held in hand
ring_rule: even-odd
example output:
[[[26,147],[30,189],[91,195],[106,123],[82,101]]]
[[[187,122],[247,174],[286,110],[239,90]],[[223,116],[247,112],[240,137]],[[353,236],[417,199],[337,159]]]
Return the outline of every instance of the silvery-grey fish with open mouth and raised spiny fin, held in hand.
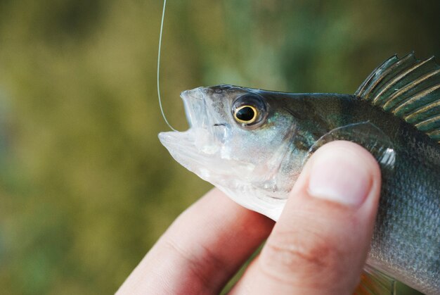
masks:
[[[190,127],[161,132],[160,142],[185,168],[273,220],[320,146],[348,140],[368,149],[380,164],[382,191],[358,294],[394,294],[395,280],[440,294],[440,66],[434,56],[394,55],[355,94],[220,84],[181,98]]]

